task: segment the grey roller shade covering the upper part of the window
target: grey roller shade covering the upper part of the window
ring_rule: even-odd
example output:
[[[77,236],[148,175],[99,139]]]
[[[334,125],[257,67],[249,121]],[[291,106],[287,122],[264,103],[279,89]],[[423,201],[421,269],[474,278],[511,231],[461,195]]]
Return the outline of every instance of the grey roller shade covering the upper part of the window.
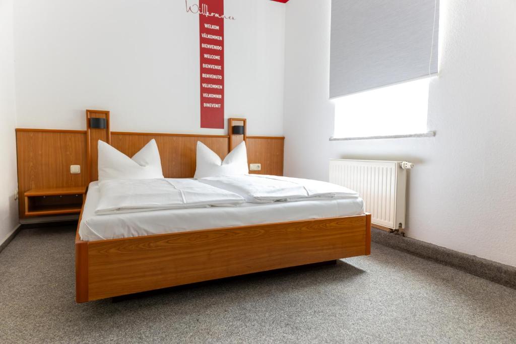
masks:
[[[331,5],[330,97],[437,73],[439,1],[332,0]]]

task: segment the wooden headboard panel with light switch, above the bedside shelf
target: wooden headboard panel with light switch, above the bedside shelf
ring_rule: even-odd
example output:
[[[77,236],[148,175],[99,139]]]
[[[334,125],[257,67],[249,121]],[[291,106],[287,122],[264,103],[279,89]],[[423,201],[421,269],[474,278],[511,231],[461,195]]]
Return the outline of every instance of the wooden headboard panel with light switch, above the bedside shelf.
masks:
[[[20,217],[24,193],[34,188],[78,187],[87,184],[86,132],[82,130],[17,129]],[[70,165],[80,165],[71,174]]]

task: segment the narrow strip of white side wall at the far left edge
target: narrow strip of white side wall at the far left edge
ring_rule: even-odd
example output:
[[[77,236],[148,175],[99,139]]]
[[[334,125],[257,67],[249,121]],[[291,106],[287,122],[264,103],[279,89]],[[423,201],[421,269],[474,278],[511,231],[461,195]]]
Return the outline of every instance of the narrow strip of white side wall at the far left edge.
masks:
[[[0,0],[0,244],[18,225],[12,0]]]

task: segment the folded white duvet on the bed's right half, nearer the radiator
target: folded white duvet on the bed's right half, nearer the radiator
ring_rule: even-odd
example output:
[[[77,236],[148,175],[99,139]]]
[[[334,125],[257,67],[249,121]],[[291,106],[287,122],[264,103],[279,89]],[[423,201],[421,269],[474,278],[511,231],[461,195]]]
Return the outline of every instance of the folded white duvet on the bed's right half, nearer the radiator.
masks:
[[[234,192],[249,203],[358,198],[359,194],[340,185],[275,175],[206,177],[199,182]]]

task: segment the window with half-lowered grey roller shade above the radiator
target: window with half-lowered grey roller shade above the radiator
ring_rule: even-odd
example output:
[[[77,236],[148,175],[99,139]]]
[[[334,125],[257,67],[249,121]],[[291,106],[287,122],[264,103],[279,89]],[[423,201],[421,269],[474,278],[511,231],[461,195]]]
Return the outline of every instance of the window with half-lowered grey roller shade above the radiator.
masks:
[[[334,138],[432,136],[428,89],[438,48],[439,0],[332,0]]]

